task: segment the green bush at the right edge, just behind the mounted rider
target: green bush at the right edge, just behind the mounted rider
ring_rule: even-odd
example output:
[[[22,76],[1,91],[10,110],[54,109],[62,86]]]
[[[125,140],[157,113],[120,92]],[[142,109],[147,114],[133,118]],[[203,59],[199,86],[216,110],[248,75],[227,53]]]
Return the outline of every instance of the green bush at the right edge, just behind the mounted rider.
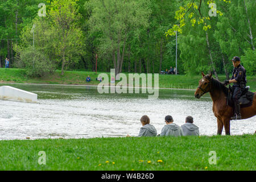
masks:
[[[256,75],[256,53],[251,49],[245,51],[245,56],[241,56],[241,63],[246,69],[246,75]]]

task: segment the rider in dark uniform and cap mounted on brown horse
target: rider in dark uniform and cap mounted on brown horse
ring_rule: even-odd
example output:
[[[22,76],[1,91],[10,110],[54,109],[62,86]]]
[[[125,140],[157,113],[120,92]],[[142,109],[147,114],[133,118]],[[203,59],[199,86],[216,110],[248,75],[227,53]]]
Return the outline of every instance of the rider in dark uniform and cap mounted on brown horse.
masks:
[[[242,96],[243,90],[245,90],[246,86],[246,70],[240,64],[240,57],[233,57],[231,60],[234,66],[232,78],[230,80],[225,80],[224,85],[228,85],[233,83],[233,96],[232,100],[234,102],[234,116],[231,119],[242,119],[240,113],[240,104],[238,102],[239,98]]]

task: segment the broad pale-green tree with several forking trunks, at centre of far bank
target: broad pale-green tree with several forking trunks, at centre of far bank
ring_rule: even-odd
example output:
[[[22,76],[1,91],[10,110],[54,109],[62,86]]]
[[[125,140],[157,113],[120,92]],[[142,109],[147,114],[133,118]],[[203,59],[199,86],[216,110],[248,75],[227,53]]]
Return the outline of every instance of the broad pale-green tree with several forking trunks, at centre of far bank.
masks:
[[[101,56],[113,60],[115,74],[122,72],[127,46],[127,36],[134,32],[138,36],[138,27],[148,26],[150,9],[147,0],[96,0],[90,1],[92,9],[90,30],[101,33]]]

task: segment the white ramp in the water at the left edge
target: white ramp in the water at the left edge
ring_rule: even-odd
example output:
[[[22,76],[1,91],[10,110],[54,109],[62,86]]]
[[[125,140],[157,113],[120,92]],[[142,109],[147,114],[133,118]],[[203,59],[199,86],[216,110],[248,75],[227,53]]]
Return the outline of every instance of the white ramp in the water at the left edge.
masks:
[[[0,99],[20,102],[36,102],[38,94],[20,90],[12,86],[0,86]]]

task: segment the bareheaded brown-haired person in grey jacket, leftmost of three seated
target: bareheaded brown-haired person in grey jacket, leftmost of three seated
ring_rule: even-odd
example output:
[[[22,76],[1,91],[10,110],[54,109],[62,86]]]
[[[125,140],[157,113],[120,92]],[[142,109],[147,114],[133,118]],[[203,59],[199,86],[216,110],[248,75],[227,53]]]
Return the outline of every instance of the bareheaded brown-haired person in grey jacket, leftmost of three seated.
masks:
[[[141,117],[141,130],[139,130],[138,137],[156,137],[158,132],[153,125],[150,125],[150,118],[147,115]],[[131,137],[127,135],[127,137]]]

